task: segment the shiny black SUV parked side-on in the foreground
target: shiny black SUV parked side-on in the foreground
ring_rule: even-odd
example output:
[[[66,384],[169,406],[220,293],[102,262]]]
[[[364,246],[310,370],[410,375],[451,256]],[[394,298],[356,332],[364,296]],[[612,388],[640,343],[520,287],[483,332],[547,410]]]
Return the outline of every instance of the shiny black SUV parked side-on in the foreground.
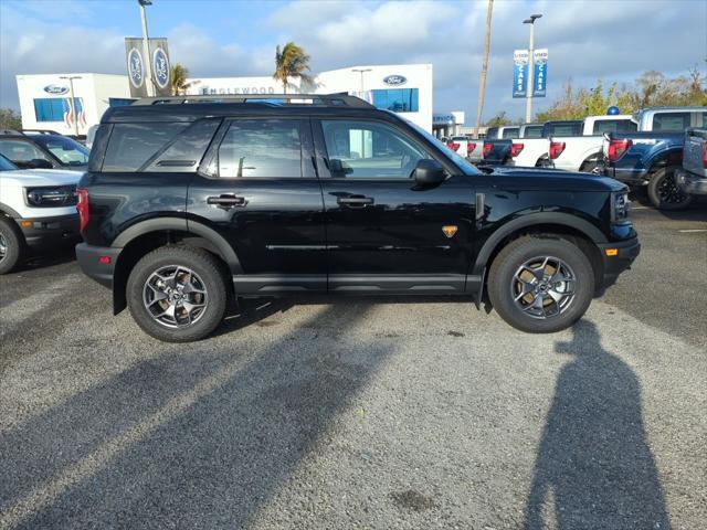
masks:
[[[346,95],[143,99],[103,116],[78,190],[84,273],[166,341],[235,297],[467,295],[557,331],[639,254],[627,189],[476,169]]]

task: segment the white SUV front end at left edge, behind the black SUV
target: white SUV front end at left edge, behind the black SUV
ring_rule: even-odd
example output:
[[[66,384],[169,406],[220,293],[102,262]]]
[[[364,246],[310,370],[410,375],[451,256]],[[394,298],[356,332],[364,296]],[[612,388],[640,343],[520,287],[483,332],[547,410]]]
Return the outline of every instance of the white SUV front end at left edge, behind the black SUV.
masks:
[[[19,169],[0,155],[0,274],[32,254],[75,243],[77,171]]]

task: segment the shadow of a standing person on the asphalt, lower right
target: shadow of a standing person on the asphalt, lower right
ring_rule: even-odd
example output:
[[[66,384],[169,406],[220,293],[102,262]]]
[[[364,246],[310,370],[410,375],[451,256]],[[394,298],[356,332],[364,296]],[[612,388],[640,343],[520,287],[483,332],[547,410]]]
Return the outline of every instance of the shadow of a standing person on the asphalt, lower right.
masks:
[[[573,360],[557,381],[524,528],[669,528],[646,442],[639,379],[602,348],[599,331],[587,320],[556,351]],[[545,520],[552,516],[556,524]]]

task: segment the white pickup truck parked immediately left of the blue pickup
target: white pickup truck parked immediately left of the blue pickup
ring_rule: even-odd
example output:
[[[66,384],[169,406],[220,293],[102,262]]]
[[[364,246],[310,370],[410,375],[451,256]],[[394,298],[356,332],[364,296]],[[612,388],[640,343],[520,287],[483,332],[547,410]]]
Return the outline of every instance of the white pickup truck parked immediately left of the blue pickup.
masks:
[[[630,115],[589,116],[580,135],[548,135],[548,158],[557,169],[595,171],[600,166],[605,132],[635,132],[637,124]]]

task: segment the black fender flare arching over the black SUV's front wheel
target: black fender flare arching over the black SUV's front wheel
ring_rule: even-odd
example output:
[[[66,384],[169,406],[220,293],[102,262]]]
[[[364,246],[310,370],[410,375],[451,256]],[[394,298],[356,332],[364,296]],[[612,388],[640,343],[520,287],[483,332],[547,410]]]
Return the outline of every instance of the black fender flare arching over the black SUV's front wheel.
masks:
[[[472,274],[483,274],[486,266],[488,265],[488,258],[490,257],[492,253],[507,236],[520,229],[527,229],[539,224],[559,224],[568,226],[570,229],[577,230],[578,232],[581,232],[594,243],[606,243],[606,237],[604,236],[604,234],[602,234],[601,230],[592,225],[589,221],[584,221],[583,219],[576,215],[560,212],[531,213],[528,215],[516,218],[494,231],[494,233],[484,242],[484,245],[478,251],[476,261],[474,262]]]

